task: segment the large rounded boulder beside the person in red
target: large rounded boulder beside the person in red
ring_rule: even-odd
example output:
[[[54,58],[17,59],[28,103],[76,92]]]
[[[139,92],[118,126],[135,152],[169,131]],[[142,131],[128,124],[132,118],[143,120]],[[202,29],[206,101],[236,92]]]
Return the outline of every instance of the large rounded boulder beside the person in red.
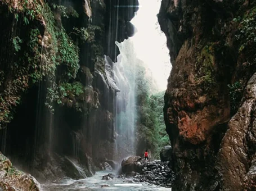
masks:
[[[141,157],[139,156],[124,158],[121,163],[122,171],[125,174],[129,174],[131,172],[140,172],[143,169],[143,165],[140,161]]]

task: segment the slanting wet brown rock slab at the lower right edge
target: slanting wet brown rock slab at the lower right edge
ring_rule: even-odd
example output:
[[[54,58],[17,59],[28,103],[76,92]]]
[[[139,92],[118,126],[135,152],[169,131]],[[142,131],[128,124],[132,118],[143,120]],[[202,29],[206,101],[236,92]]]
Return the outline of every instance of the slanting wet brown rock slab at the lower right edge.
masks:
[[[255,190],[256,73],[248,81],[242,105],[228,123],[218,153],[223,190]]]

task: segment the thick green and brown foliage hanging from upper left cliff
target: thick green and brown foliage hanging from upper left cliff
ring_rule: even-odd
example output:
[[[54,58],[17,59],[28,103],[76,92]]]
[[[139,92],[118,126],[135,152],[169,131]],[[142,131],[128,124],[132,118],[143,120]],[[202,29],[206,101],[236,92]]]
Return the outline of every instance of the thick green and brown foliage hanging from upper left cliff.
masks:
[[[7,80],[5,76],[8,75],[5,72],[9,71],[0,70],[0,84],[5,85],[5,90],[0,93],[0,124],[6,124],[12,120],[14,108],[20,103],[23,93],[32,84],[38,83],[46,77],[50,83],[47,98],[52,96],[48,100],[61,103],[56,98],[64,96],[60,88],[67,88],[65,84],[69,84],[69,80],[77,77],[80,65],[77,45],[66,34],[65,29],[57,24],[47,3],[42,5],[41,1],[35,0],[19,1],[17,6],[9,1],[1,3],[8,7],[16,21],[21,19],[24,25],[30,25],[26,29],[27,31],[22,33],[22,36],[11,39],[13,50],[10,51],[16,55],[8,64],[12,71],[12,78],[5,81]],[[57,8],[62,8],[66,14],[78,16],[75,11],[70,11],[70,9]],[[38,28],[38,21],[45,26],[43,34]],[[61,70],[61,76],[55,83],[57,70]],[[74,85],[73,89],[78,89],[77,84],[70,84]],[[46,104],[50,106],[52,103]]]

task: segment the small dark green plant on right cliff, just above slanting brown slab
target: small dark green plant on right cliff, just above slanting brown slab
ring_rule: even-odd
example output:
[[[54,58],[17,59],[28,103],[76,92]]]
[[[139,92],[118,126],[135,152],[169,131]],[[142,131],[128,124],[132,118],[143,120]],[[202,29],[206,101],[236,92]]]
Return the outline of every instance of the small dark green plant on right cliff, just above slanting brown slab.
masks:
[[[239,81],[236,81],[233,84],[229,84],[228,89],[230,91],[231,115],[235,115],[240,106],[244,88],[242,88],[242,84]]]

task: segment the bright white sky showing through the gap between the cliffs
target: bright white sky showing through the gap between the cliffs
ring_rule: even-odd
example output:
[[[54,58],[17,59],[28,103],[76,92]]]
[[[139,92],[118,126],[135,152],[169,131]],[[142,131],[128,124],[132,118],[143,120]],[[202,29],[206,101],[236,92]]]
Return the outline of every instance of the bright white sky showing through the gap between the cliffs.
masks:
[[[157,14],[161,0],[139,0],[140,9],[132,19],[137,33],[131,37],[137,57],[149,67],[159,90],[167,89],[167,79],[172,69],[167,39],[160,30]]]

